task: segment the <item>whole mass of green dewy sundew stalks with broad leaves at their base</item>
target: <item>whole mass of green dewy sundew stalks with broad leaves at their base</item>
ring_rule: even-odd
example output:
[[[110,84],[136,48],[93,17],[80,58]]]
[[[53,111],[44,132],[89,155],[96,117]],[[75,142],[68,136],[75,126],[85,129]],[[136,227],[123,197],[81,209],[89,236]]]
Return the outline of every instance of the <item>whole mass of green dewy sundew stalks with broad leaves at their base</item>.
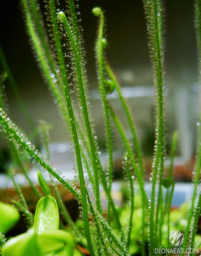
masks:
[[[49,157],[49,127],[45,121],[40,121],[40,127],[36,127],[29,116],[23,101],[20,99],[18,89],[15,86],[12,73],[1,52],[1,96],[0,96],[0,123],[1,131],[5,133],[13,162],[8,172],[12,177],[18,201],[13,201],[18,209],[24,213],[27,220],[29,233],[15,238],[15,243],[5,243],[4,233],[1,234],[2,255],[25,255],[30,248],[29,255],[73,255],[73,247],[79,251],[79,245],[85,247],[90,255],[130,255],[132,254],[133,234],[136,232],[135,221],[136,207],[135,199],[141,201],[139,250],[141,255],[155,255],[155,249],[169,248],[168,237],[171,233],[171,200],[174,192],[174,180],[172,179],[172,168],[177,145],[177,133],[172,140],[171,165],[168,173],[164,173],[165,143],[164,143],[164,1],[144,0],[144,12],[147,21],[148,44],[150,49],[150,60],[152,63],[153,83],[155,84],[155,108],[156,108],[156,134],[155,150],[153,154],[152,174],[150,176],[150,192],[144,187],[144,164],[143,153],[136,134],[132,115],[122,96],[118,80],[107,62],[105,48],[105,17],[101,7],[94,7],[93,14],[97,17],[98,31],[96,38],[96,66],[99,80],[99,95],[102,101],[102,112],[105,125],[105,141],[108,155],[107,167],[103,167],[100,160],[99,145],[97,143],[96,127],[94,127],[91,115],[91,104],[89,101],[89,88],[86,79],[85,54],[82,41],[82,28],[79,21],[79,10],[77,2],[65,1],[65,10],[60,9],[62,0],[44,0],[46,9],[43,16],[37,0],[21,0],[27,33],[30,37],[34,55],[40,66],[44,80],[51,90],[52,96],[57,101],[58,108],[62,113],[71,140],[72,157],[76,182],[72,183],[63,177],[57,170]],[[199,71],[200,65],[200,36],[201,36],[201,1],[194,1],[195,27],[197,36],[197,52]],[[46,18],[46,21],[44,21]],[[135,18],[135,17],[133,17]],[[47,157],[44,158],[38,148],[33,146],[28,135],[24,135],[16,124],[12,122],[7,114],[4,101],[4,80],[8,79],[12,84],[15,96],[22,109],[22,115],[26,115],[30,125],[35,132],[43,135],[43,147],[46,149]],[[200,82],[199,78],[199,82]],[[121,116],[115,112],[108,94],[115,91],[122,104],[125,116],[128,120],[132,139],[127,138]],[[76,94],[76,101],[72,98]],[[75,96],[73,96],[75,97]],[[124,166],[125,182],[127,184],[128,211],[126,224],[120,218],[119,209],[116,207],[111,196],[113,180],[114,151],[112,127],[116,126],[121,135],[122,145],[125,148]],[[200,165],[201,165],[201,136],[198,127],[197,160],[194,166],[194,193],[189,204],[186,215],[186,225],[181,230],[184,235],[182,248],[199,249],[200,243],[196,241],[197,222],[200,215]],[[63,138],[66,140],[66,138]],[[27,160],[28,158],[28,160]],[[55,199],[51,196],[48,184],[38,174],[40,187],[46,194],[43,197],[38,188],[29,178],[27,172],[27,161],[32,161],[41,171],[49,172],[50,186],[53,187]],[[38,196],[37,212],[35,217],[30,213],[21,188],[15,182],[15,168],[19,166],[30,187]],[[72,221],[68,210],[62,202],[57,190],[61,183],[66,190],[74,194],[83,221],[84,231],[80,231]],[[89,188],[89,183],[91,188]],[[101,188],[107,196],[107,209],[103,208],[101,201]],[[44,205],[54,205],[52,216],[44,210]],[[64,225],[58,230],[58,209],[68,222],[68,232],[65,233]],[[43,212],[44,211],[44,212]],[[42,216],[42,217],[41,217]],[[43,221],[41,221],[43,219]],[[55,221],[56,219],[56,221]],[[41,222],[40,222],[41,221]],[[52,224],[53,223],[53,224]],[[166,229],[163,229],[164,225]],[[54,232],[51,229],[55,229]],[[34,231],[35,230],[35,231]],[[50,231],[49,231],[50,230]],[[43,232],[44,231],[44,232]],[[36,235],[37,234],[37,235]],[[37,237],[37,238],[36,238]],[[16,243],[19,241],[20,243]],[[45,242],[44,242],[45,241]],[[47,242],[49,241],[49,242]],[[51,244],[51,246],[46,245]],[[72,245],[74,243],[74,246]],[[19,244],[24,244],[23,246]],[[37,244],[37,245],[34,245]],[[46,245],[46,246],[45,246]],[[31,247],[29,247],[31,246]],[[44,246],[44,247],[43,247]],[[67,246],[66,251],[61,248]],[[43,247],[43,250],[40,249]],[[147,249],[148,247],[148,249]],[[33,249],[35,248],[35,249]],[[70,248],[70,249],[69,249]],[[25,250],[25,251],[24,251]],[[49,250],[49,251],[48,251]],[[185,251],[183,251],[185,252]],[[61,254],[62,253],[62,254]],[[82,255],[80,253],[80,255]]]

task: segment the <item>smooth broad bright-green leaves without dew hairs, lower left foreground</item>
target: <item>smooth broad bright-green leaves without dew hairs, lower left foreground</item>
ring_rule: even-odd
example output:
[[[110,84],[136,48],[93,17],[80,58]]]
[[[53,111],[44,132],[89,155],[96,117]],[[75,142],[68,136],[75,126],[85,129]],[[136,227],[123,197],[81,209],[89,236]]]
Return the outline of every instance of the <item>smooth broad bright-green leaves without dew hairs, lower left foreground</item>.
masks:
[[[47,192],[47,196],[38,201],[33,227],[28,229],[26,233],[10,239],[2,247],[2,255],[4,256],[43,256],[51,253],[55,255],[55,253],[57,254],[57,252],[63,250],[66,252],[64,255],[73,255],[74,241],[72,235],[63,230],[58,230],[57,202],[50,195],[50,189],[48,189],[48,184],[41,172],[38,172],[38,182],[42,190]],[[9,207],[7,206],[7,208]]]

